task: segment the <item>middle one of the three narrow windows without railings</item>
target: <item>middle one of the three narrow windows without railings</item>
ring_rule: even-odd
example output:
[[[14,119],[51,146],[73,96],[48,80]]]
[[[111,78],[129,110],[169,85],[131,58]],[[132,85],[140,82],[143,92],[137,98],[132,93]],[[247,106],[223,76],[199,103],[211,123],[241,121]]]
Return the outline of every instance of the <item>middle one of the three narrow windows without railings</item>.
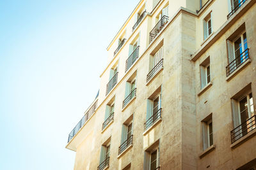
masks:
[[[200,64],[201,89],[211,82],[210,57]]]

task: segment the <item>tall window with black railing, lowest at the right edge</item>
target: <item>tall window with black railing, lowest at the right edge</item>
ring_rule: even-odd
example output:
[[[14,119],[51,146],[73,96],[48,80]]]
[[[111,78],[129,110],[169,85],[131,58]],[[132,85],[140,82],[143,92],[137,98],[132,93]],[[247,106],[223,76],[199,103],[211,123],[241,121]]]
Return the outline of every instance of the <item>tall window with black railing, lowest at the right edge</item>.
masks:
[[[242,90],[242,92],[239,92],[232,98],[232,111],[234,118],[234,129],[231,131],[232,143],[255,129],[256,124],[255,111],[253,108],[253,96],[252,91],[248,89],[248,86],[246,86],[245,90]]]

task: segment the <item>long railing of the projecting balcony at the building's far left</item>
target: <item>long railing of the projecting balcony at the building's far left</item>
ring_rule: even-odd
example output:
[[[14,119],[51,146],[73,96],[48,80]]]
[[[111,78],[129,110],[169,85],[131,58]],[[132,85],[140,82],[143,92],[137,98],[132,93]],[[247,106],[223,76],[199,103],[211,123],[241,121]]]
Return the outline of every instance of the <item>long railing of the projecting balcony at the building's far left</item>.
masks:
[[[93,103],[92,107],[84,114],[83,118],[78,122],[76,127],[74,127],[74,129],[70,132],[70,134],[68,135],[68,142],[77,134],[77,132],[81,129],[81,127],[83,127],[85,122],[90,117],[92,117],[94,111],[97,108],[97,103],[98,103],[98,101],[95,101],[95,103]]]

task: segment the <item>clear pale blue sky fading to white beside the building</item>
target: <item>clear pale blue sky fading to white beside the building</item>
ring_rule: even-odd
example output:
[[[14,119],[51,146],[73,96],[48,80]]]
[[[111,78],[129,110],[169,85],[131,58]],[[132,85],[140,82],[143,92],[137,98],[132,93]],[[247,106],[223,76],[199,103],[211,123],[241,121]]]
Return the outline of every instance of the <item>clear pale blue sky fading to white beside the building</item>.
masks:
[[[0,169],[73,169],[68,133],[138,2],[0,1]]]

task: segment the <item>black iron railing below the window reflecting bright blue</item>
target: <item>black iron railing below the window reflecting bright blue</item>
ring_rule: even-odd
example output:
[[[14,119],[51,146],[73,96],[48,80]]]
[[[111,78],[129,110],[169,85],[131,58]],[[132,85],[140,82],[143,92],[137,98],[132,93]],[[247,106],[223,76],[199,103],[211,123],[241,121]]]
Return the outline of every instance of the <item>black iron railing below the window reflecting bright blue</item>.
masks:
[[[249,48],[244,50],[243,53],[241,53],[236,59],[232,60],[226,67],[226,73],[227,76],[229,76],[231,73],[233,73],[238,67],[242,66],[246,60],[249,58]]]

